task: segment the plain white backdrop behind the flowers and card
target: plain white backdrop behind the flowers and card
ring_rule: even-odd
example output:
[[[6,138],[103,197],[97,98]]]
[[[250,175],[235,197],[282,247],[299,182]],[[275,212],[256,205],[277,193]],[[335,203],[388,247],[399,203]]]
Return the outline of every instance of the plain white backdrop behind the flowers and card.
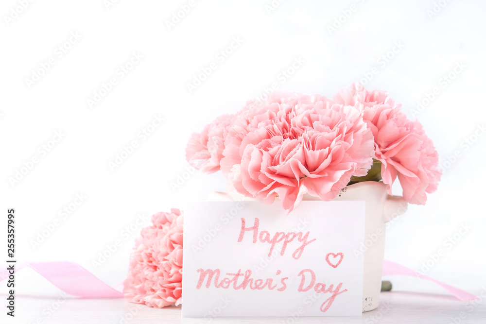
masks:
[[[432,17],[427,14],[432,0],[329,2],[283,1],[269,13],[270,0],[196,1],[169,30],[166,21],[187,1],[119,0],[108,8],[104,0],[33,1],[9,23],[5,17],[20,11],[19,2],[2,1],[0,219],[5,222],[6,209],[16,208],[17,259],[72,260],[110,284],[120,282],[139,213],[150,216],[224,190],[221,174],[192,174],[179,188],[171,187],[186,171],[184,150],[192,132],[237,111],[273,82],[279,90],[332,96],[377,68],[365,86],[388,90],[410,118],[417,101],[440,89],[416,117],[434,140],[441,164],[460,153],[444,164],[449,168],[427,205],[411,205],[389,228],[385,257],[420,270],[467,223],[471,229],[427,274],[479,291],[486,285],[485,136],[467,150],[464,141],[486,121],[485,2],[442,1]],[[357,10],[347,18],[343,10],[351,4]],[[335,19],[344,22],[330,33]],[[58,58],[56,48],[75,32],[81,38]],[[219,62],[216,55],[233,37],[242,44]],[[396,43],[404,47],[390,53]],[[143,59],[90,108],[87,99],[117,77],[134,52]],[[382,66],[379,60],[387,54],[391,58]],[[50,57],[55,64],[29,88],[26,79]],[[280,83],[279,74],[295,58],[305,63]],[[217,69],[190,93],[187,84],[211,62]],[[458,62],[466,67],[443,88],[440,79]],[[163,125],[141,141],[137,134],[156,114],[165,118]],[[38,148],[59,130],[65,136],[41,157]],[[109,162],[133,140],[139,147],[112,171]],[[9,178],[34,156],[39,162],[12,186]],[[394,189],[400,193],[399,186]],[[31,240],[60,218],[59,210],[77,193],[86,201],[34,249]],[[126,235],[130,225],[138,228]],[[95,269],[92,261],[117,239],[121,247]],[[30,285],[41,280],[21,276],[18,294],[48,289]],[[395,288],[407,290],[415,280],[396,279]]]

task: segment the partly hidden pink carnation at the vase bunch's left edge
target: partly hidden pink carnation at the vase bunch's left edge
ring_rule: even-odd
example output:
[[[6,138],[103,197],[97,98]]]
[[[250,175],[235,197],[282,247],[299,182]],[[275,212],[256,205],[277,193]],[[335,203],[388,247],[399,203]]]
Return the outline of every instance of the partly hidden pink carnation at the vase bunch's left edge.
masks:
[[[213,173],[220,169],[225,138],[234,115],[223,115],[206,125],[201,133],[193,133],[186,147],[186,160],[197,170]]]

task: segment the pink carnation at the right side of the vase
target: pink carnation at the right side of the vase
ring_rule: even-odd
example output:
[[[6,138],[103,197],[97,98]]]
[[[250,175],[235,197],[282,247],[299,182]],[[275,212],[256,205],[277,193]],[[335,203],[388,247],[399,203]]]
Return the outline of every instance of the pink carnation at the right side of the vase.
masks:
[[[382,162],[383,183],[391,194],[392,184],[399,179],[403,197],[412,204],[424,205],[427,193],[437,189],[441,172],[438,154],[418,121],[410,121],[400,105],[383,91],[367,91],[361,84],[341,90],[334,101],[362,104],[363,118],[375,137],[376,159]]]

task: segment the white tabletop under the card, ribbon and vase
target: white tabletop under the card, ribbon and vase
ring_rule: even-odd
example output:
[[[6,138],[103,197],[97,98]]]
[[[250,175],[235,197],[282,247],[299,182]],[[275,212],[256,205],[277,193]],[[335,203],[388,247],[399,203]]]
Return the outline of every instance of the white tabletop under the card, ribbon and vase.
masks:
[[[301,317],[296,320],[292,317],[181,318],[180,307],[156,309],[124,299],[71,298],[57,305],[58,299],[62,301],[60,297],[18,296],[17,316],[5,322],[6,316],[1,314],[0,323],[486,323],[484,298],[466,305],[448,295],[400,291],[383,292],[380,307],[361,317]]]

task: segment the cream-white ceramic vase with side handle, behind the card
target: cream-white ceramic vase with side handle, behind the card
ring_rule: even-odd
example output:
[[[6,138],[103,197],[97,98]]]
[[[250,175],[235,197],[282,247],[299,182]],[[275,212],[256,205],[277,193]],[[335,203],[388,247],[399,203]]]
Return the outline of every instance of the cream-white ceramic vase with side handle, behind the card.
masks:
[[[213,192],[208,200],[254,200],[234,193]],[[305,195],[303,200],[319,200]],[[385,243],[385,225],[407,211],[403,197],[388,195],[382,182],[365,181],[343,188],[334,200],[365,201],[363,277],[363,312],[378,307],[382,288],[382,267]],[[361,252],[361,250],[360,250]]]

